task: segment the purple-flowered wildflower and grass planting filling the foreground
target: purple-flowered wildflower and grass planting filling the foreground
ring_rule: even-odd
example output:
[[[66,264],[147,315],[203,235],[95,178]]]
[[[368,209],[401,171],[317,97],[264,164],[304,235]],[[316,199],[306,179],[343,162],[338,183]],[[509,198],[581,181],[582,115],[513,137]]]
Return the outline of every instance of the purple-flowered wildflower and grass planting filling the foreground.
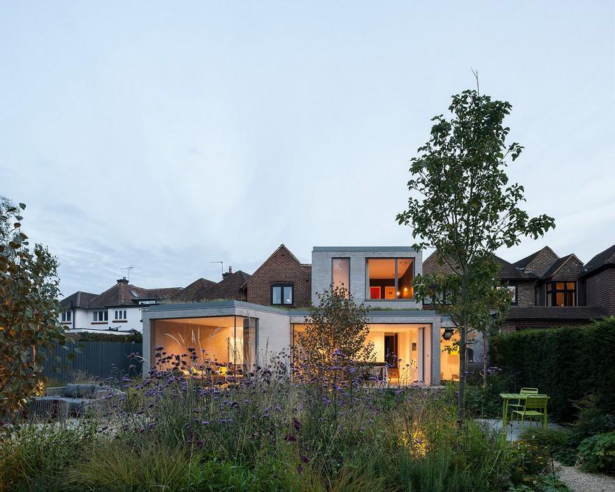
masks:
[[[5,426],[2,490],[503,491],[533,462],[457,428],[447,393],[382,386],[339,351],[317,375],[278,354],[223,381],[193,347],[156,355],[103,413]]]

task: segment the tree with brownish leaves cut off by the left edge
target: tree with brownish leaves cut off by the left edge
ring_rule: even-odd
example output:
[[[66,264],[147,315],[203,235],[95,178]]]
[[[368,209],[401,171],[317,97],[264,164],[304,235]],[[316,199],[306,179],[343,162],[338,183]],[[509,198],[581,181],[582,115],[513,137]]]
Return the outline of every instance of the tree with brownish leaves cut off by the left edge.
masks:
[[[57,259],[31,250],[22,232],[23,203],[0,210],[0,400],[18,407],[37,386],[45,349],[64,340],[57,321]]]

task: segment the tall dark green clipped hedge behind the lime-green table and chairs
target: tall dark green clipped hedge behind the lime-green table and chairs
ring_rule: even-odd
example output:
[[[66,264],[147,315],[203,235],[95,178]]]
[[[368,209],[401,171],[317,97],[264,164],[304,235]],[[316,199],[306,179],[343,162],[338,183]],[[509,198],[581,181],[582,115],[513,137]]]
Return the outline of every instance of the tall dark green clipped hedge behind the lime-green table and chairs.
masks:
[[[615,415],[615,317],[497,335],[491,357],[512,377],[512,389],[530,386],[547,393],[549,414],[560,421],[572,421],[572,402],[590,394],[598,397],[602,412]]]

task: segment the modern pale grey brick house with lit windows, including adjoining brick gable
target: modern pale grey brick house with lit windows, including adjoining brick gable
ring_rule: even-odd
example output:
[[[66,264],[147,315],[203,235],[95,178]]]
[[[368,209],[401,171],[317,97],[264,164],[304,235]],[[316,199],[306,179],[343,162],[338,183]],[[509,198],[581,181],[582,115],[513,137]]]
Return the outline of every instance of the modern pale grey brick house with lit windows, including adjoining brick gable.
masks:
[[[414,299],[412,280],[421,271],[421,252],[410,247],[314,247],[309,266],[281,245],[242,286],[247,302],[151,306],[143,316],[144,367],[155,362],[158,346],[168,354],[196,347],[224,364],[266,363],[305,330],[307,293],[317,304],[317,292],[344,284],[370,307],[369,340],[377,361],[392,366],[389,377],[440,384],[442,376],[458,376],[458,355],[445,352],[441,360],[449,343],[442,317]]]

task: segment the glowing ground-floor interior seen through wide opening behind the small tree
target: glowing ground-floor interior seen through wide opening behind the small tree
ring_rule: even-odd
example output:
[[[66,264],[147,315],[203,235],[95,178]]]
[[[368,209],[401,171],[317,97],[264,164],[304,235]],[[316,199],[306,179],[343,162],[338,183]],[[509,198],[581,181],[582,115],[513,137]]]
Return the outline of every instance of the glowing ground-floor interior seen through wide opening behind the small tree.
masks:
[[[293,344],[301,349],[305,324],[293,325]],[[423,376],[424,347],[422,325],[370,324],[366,342],[374,344],[375,366],[388,366],[391,384],[412,384]]]

